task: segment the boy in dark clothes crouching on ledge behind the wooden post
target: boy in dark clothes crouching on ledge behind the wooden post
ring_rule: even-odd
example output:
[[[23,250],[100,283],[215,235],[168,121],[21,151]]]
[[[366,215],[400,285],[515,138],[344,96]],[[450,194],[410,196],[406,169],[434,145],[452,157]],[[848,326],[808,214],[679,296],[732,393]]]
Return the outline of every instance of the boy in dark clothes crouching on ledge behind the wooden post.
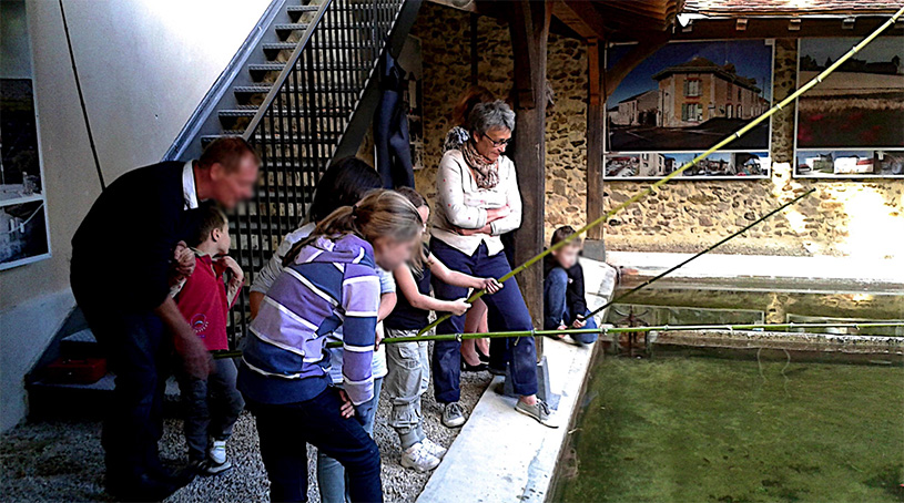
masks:
[[[572,234],[575,229],[570,225],[557,228],[550,246],[556,246]],[[592,317],[586,318],[590,310],[587,309],[583,291],[583,269],[578,260],[581,249],[582,242],[578,237],[544,259],[545,330],[597,328]],[[572,333],[571,339],[579,345],[589,345],[597,340],[597,333]]]

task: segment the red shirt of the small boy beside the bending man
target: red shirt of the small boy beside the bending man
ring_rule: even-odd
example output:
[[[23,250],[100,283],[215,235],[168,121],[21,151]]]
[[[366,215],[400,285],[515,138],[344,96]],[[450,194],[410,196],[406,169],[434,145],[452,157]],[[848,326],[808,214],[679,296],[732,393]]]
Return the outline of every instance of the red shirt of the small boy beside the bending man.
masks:
[[[204,341],[209,351],[230,349],[226,317],[232,305],[223,281],[225,270],[226,267],[220,263],[214,264],[210,255],[195,256],[194,273],[185,280],[175,299],[182,316]]]

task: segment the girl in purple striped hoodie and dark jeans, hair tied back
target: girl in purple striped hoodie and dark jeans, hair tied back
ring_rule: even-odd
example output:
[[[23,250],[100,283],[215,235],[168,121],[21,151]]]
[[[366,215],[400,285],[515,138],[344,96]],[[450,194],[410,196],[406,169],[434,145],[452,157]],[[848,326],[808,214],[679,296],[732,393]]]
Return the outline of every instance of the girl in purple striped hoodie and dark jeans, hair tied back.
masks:
[[[408,199],[375,191],[336,209],[283,261],[251,324],[238,389],[257,420],[271,500],[307,499],[307,443],[345,466],[353,501],[383,501],[379,451],[356,418],[373,398],[379,280],[420,246]],[[343,390],[329,379],[326,336],[344,332]]]

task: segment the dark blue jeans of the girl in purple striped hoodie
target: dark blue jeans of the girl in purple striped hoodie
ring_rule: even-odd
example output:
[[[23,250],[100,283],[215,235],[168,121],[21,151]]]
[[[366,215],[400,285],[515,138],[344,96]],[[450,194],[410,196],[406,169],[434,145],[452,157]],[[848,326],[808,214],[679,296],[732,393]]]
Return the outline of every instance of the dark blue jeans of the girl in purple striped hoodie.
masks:
[[[338,460],[348,472],[351,500],[382,502],[379,449],[355,418],[339,414],[336,388],[298,403],[248,400],[257,420],[261,458],[270,479],[271,501],[307,501],[307,444]]]

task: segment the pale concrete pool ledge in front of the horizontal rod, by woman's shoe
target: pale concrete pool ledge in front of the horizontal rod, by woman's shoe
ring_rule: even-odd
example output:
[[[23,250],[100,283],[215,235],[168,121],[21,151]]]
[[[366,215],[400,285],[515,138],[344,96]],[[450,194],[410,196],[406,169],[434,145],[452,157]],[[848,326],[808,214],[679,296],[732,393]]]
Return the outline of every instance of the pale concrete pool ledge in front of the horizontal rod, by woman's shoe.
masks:
[[[522,503],[547,499],[593,347],[548,340],[544,349],[552,392],[561,396],[556,412],[559,428],[546,428],[516,412],[516,399],[500,394],[504,379],[497,377],[418,502]]]

